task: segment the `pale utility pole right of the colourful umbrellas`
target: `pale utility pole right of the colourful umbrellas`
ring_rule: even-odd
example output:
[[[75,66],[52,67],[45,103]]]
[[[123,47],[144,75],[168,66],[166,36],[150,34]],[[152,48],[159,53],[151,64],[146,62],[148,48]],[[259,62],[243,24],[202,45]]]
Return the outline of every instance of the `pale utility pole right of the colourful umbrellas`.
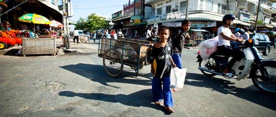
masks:
[[[66,49],[70,49],[69,40],[69,17],[68,17],[68,0],[63,0],[63,26],[64,26],[64,43]]]

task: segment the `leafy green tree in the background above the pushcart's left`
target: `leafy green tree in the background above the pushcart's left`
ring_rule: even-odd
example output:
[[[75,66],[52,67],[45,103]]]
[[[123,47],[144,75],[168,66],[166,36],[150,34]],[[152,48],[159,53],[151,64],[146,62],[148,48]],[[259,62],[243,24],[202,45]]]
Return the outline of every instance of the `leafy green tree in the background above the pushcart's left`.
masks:
[[[105,18],[97,16],[96,14],[91,14],[86,19],[80,18],[76,25],[76,29],[90,32],[107,27],[109,27],[109,24],[105,21]]]

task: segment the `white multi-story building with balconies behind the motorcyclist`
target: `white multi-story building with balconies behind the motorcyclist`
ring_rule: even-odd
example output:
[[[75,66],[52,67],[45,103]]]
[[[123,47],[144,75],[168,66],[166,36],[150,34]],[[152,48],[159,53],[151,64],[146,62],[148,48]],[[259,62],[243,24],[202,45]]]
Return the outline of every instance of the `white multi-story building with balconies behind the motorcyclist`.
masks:
[[[145,4],[151,9],[145,9],[147,24],[162,23],[168,26],[180,26],[184,19],[191,20],[192,28],[215,31],[216,27],[222,25],[222,18],[226,14],[233,14],[234,27],[254,27],[258,0],[195,0],[189,1],[188,17],[186,18],[187,0],[146,0]],[[260,5],[258,23],[266,28],[273,28],[271,25],[271,14],[275,8],[271,7],[272,2],[266,1]]]

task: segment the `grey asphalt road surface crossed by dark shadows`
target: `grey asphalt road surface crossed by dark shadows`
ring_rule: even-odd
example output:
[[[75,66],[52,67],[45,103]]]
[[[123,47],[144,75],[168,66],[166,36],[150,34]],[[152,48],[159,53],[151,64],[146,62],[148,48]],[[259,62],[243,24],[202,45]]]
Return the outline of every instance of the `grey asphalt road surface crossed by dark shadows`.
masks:
[[[202,75],[198,49],[184,49],[186,81],[173,93],[176,112],[168,113],[151,102],[150,66],[137,78],[127,66],[109,77],[97,44],[71,45],[77,53],[0,55],[0,116],[276,116],[276,96],[260,92],[251,79]],[[276,50],[265,58],[276,58]]]

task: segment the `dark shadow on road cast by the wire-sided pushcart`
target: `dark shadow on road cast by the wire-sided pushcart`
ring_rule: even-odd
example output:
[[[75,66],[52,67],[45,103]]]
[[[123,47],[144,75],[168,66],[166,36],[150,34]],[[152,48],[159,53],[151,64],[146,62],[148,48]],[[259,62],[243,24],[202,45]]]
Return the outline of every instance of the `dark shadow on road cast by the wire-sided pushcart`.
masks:
[[[106,86],[112,86],[107,84],[108,82],[120,82],[120,83],[126,83],[126,84],[139,84],[139,85],[151,85],[151,80],[144,80],[144,79],[138,79],[133,76],[135,76],[134,72],[130,72],[126,70],[123,70],[122,74],[118,77],[109,77],[105,71],[102,65],[93,65],[93,64],[83,64],[79,63],[76,65],[66,65],[66,66],[60,66],[63,69],[66,69],[68,71],[71,71],[73,73],[79,74],[83,77],[86,77],[92,81],[99,82]],[[125,69],[125,68],[124,68]],[[147,74],[139,74],[139,76],[149,78],[151,76],[150,73]],[[133,77],[133,78],[126,78],[126,77]],[[116,88],[120,88],[117,86],[112,86]]]

